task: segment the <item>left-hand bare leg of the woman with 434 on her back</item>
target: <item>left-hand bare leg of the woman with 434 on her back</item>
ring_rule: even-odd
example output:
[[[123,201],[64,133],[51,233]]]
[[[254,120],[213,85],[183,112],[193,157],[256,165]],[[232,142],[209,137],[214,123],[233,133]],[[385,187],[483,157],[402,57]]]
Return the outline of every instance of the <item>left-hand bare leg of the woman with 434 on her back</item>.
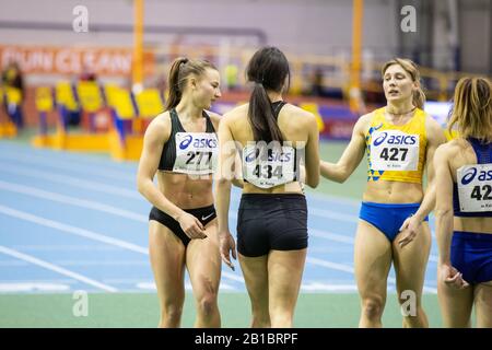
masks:
[[[251,301],[253,328],[270,327],[267,259],[268,255],[247,257],[239,254],[241,269]]]

